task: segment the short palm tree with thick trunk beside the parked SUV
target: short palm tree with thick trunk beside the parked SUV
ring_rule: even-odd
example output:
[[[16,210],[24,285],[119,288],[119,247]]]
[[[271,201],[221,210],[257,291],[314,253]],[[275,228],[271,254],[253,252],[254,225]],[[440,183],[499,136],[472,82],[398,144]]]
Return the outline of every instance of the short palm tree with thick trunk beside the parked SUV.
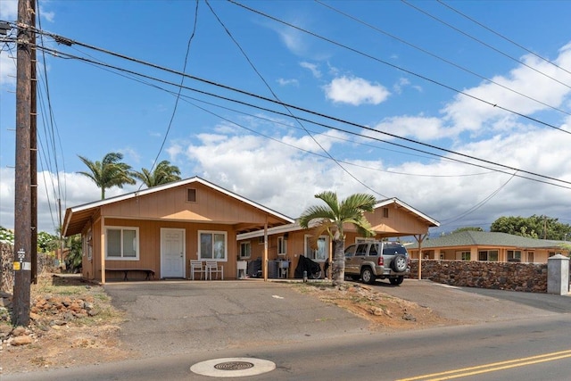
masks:
[[[355,194],[345,198],[341,203],[337,200],[335,192],[322,192],[315,195],[327,205],[314,205],[303,211],[300,217],[300,226],[313,230],[313,237],[317,238],[327,232],[333,241],[335,251],[333,261],[333,286],[343,284],[345,278],[345,235],[343,224],[351,223],[362,236],[375,236],[375,231],[365,218],[365,211],[373,211],[375,196]],[[315,223],[312,223],[315,222]]]

